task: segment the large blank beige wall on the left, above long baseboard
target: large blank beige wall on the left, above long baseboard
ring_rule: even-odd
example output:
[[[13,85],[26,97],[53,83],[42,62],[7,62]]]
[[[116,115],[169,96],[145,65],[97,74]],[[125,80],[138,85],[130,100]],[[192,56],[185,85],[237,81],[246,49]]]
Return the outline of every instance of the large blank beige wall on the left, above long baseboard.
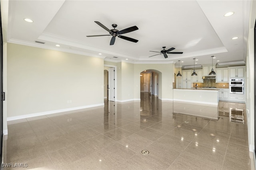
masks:
[[[7,117],[104,103],[100,58],[8,43],[7,77]]]

